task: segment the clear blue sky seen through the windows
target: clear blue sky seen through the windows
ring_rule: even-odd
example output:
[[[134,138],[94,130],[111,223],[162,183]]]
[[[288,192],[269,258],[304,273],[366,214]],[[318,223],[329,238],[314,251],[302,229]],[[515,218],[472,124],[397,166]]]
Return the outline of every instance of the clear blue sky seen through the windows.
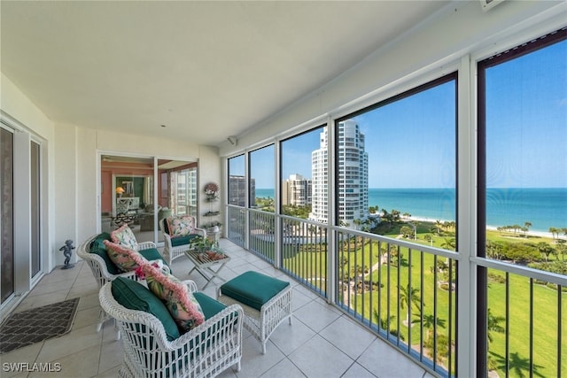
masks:
[[[353,118],[370,188],[455,187],[454,93],[449,81]],[[487,186],[567,187],[567,42],[489,68],[486,98]],[[283,178],[311,177],[320,132],[283,142]],[[252,177],[274,188],[273,146],[252,152]]]

